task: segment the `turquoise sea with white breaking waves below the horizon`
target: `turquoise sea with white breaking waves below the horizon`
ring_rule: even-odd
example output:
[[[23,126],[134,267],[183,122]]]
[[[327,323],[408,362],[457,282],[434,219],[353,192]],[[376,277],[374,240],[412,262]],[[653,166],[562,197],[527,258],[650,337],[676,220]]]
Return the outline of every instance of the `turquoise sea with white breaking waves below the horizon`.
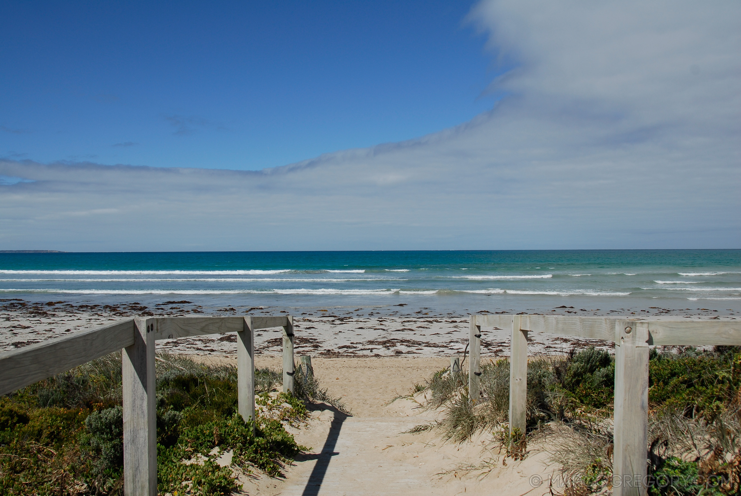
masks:
[[[0,254],[0,298],[725,310],[741,307],[741,250]]]

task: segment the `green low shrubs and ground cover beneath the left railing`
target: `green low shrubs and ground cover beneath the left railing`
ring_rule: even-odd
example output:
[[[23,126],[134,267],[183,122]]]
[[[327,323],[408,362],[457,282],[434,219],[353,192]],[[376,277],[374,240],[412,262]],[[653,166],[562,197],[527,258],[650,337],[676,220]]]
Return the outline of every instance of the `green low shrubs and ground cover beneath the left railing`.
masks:
[[[301,396],[276,391],[282,374],[259,368],[256,420],[245,422],[237,413],[235,366],[171,354],[156,359],[161,494],[227,495],[239,489],[235,471],[279,477],[306,449],[285,430],[308,417],[304,398],[335,401],[300,374]],[[225,452],[232,461],[222,467]],[[122,474],[120,354],[0,397],[1,494],[122,495]]]

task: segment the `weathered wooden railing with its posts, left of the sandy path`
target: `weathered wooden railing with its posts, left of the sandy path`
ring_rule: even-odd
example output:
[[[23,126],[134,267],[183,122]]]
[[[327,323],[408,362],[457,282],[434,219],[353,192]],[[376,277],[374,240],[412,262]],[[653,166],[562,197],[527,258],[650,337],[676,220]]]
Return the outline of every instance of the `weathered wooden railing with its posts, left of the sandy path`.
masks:
[[[124,492],[157,494],[157,340],[236,332],[239,414],[255,417],[254,331],[283,328],[283,392],[293,392],[293,317],[147,317],[76,332],[0,354],[0,394],[122,350]]]

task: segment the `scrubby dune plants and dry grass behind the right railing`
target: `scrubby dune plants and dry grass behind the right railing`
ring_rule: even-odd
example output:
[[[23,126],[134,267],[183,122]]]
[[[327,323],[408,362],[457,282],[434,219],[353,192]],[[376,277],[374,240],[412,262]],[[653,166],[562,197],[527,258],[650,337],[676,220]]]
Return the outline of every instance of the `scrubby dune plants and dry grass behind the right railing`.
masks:
[[[482,363],[480,394],[468,374],[447,369],[426,383],[425,407],[443,412],[433,426],[453,442],[491,431],[505,457],[526,456],[529,440],[562,466],[568,494],[599,492],[611,481],[614,356],[599,348],[528,360],[527,431],[509,434],[509,360]],[[651,495],[741,492],[741,349],[652,348],[649,356],[649,474],[671,485]],[[426,430],[426,429],[425,429]],[[422,429],[420,429],[422,431]],[[658,477],[658,479],[657,479]]]

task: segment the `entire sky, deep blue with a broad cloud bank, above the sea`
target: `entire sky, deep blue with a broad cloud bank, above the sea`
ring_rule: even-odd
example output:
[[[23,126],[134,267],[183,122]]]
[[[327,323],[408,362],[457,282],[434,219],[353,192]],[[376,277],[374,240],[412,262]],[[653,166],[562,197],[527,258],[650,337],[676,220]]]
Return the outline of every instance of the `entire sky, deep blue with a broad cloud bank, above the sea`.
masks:
[[[737,0],[153,5],[1,4],[0,249],[741,248]]]

